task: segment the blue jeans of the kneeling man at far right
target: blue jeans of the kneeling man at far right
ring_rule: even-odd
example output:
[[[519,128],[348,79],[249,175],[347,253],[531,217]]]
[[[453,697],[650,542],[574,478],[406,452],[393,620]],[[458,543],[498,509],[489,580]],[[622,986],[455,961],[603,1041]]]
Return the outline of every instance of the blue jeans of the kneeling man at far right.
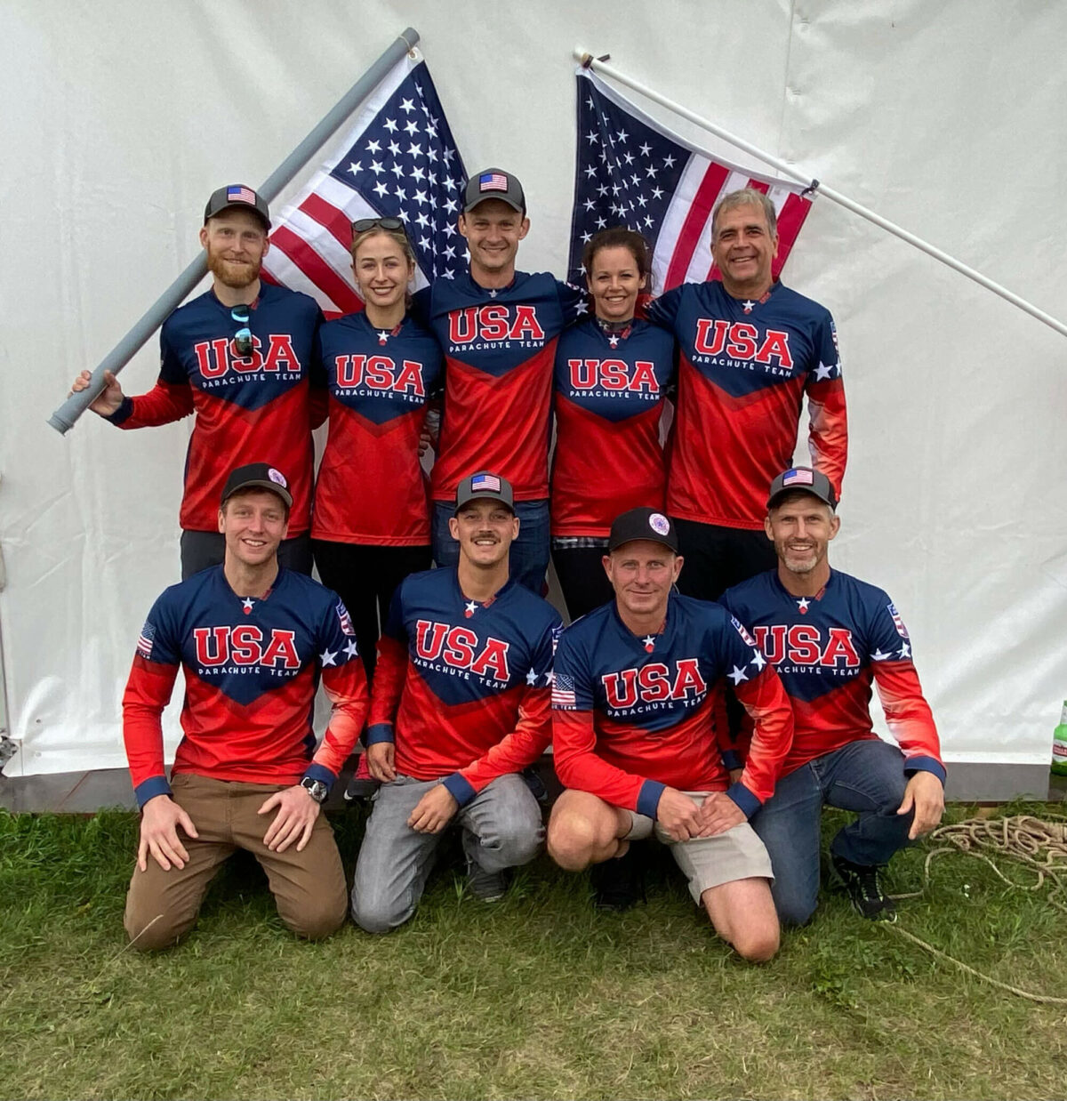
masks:
[[[771,854],[771,893],[783,923],[803,925],[815,913],[824,804],[859,811],[838,830],[830,852],[853,864],[885,864],[912,828],[914,814],[896,813],[906,785],[904,754],[879,739],[850,742],[777,782],[752,828]]]

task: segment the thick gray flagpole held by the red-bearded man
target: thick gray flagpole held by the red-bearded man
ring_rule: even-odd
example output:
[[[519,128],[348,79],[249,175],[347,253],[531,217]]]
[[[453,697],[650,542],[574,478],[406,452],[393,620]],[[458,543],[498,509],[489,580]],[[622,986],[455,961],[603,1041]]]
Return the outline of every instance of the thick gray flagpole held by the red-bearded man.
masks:
[[[304,166],[312,154],[326,142],[335,130],[367,98],[368,92],[385,76],[385,74],[409,53],[418,42],[418,32],[406,28],[400,37],[374,62],[373,65],[349,88],[337,105],[318,123],[317,127],[293,150],[292,153],[268,176],[259,194],[273,203],[283,187]],[[104,389],[104,372],[118,374],[137,355],[144,342],[182,304],[189,292],[204,279],[207,272],[207,260],[203,252],[182,272],[181,275],[160,295],[155,304],[130,329],[129,333],[108,352],[92,372],[89,385],[76,394],[72,394],[48,417],[48,424],[61,435],[69,432],[79,416],[88,408],[97,394]]]

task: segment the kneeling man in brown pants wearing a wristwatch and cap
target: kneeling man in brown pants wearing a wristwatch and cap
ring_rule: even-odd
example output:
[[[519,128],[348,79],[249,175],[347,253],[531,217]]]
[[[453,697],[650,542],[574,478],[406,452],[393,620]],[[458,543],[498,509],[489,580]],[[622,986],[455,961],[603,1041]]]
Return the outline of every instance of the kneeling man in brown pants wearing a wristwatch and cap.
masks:
[[[233,470],[219,508],[225,562],[167,589],[138,641],[122,698],[142,813],[126,904],[135,948],[186,933],[236,849],[263,866],[297,935],[325,937],[345,920],[345,873],[319,808],[363,726],[367,680],[337,595],[277,564],[292,503],[265,462]],[[168,784],[161,718],[178,666],[184,738]],[[319,676],[334,712],[316,750]]]

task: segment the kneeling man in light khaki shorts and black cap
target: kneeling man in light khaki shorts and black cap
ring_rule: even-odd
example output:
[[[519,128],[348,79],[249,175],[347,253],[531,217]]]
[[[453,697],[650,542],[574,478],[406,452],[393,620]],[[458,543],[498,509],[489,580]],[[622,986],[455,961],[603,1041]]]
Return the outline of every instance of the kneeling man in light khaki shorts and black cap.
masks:
[[[616,599],[564,631],[556,651],[553,751],[567,791],[548,851],[581,871],[655,831],[716,933],[745,959],[767,960],[779,948],[771,861],[748,819],[793,740],[788,699],[741,623],[672,591],[683,562],[665,515],[623,513],[608,549]],[[732,784],[715,721],[727,677],[754,722]]]

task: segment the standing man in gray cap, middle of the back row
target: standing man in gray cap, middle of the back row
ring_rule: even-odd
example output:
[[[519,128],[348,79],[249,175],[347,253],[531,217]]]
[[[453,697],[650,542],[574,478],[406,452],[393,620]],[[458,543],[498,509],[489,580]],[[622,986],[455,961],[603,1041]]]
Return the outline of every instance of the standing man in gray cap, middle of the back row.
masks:
[[[488,466],[514,487],[521,520],[512,576],[541,595],[548,567],[548,426],[559,333],[584,308],[576,287],[515,271],[530,231],[522,184],[503,168],[467,183],[459,232],[470,254],[415,296],[445,352],[445,406],[433,469],[434,558],[454,566],[448,533],[460,478]]]

